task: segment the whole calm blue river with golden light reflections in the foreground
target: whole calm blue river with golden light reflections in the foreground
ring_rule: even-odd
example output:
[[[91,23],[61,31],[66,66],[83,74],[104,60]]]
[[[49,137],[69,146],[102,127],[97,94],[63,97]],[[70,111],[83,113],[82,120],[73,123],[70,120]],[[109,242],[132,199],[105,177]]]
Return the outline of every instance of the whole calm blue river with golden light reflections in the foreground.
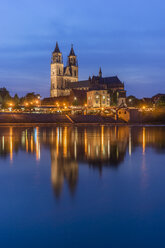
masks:
[[[165,127],[0,127],[0,247],[165,247]]]

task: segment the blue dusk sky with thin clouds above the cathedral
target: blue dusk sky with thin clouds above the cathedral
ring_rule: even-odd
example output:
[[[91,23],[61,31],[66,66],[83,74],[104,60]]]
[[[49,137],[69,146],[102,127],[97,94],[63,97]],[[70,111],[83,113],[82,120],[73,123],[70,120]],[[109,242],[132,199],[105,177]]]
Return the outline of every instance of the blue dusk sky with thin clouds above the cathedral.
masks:
[[[115,76],[127,95],[165,93],[164,0],[0,0],[0,87],[19,96],[50,94],[56,41],[71,44],[79,80]]]

